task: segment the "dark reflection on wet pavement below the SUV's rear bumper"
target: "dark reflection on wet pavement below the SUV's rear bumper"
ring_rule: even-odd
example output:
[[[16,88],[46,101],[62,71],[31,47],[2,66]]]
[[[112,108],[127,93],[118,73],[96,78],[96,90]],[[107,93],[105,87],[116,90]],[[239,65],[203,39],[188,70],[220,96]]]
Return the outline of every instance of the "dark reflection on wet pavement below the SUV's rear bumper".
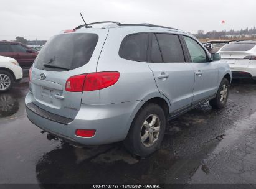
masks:
[[[161,149],[146,159],[136,159],[120,146],[77,149],[66,145],[47,152],[37,162],[37,180],[39,183],[164,182],[163,174],[173,164],[167,150]]]

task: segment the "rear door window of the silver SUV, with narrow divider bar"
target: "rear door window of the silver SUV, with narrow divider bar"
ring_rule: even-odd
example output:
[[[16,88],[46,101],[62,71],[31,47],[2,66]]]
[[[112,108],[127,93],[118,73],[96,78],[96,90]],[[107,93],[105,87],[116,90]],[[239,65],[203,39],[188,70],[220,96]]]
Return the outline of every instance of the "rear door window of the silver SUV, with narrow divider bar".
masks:
[[[185,62],[181,42],[175,34],[154,34],[151,53],[153,62]]]

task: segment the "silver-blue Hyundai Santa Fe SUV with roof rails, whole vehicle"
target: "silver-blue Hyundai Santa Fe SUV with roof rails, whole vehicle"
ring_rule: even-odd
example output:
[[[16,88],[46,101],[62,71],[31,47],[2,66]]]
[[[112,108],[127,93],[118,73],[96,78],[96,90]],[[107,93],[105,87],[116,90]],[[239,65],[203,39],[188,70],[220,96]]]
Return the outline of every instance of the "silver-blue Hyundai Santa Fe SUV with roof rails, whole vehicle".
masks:
[[[49,139],[124,141],[144,157],[159,148],[170,119],[207,101],[225,106],[229,65],[192,35],[153,24],[95,25],[55,35],[31,67],[26,111]]]

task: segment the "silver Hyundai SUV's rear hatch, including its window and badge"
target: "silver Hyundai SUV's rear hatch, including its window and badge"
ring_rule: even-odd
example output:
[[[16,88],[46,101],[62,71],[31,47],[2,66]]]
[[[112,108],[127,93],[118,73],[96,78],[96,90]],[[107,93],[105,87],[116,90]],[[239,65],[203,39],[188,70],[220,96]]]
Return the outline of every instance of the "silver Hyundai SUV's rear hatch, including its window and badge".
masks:
[[[52,37],[40,50],[31,73],[34,104],[66,118],[75,118],[82,93],[65,90],[74,75],[96,71],[108,29],[79,29]],[[97,96],[95,96],[97,98]]]

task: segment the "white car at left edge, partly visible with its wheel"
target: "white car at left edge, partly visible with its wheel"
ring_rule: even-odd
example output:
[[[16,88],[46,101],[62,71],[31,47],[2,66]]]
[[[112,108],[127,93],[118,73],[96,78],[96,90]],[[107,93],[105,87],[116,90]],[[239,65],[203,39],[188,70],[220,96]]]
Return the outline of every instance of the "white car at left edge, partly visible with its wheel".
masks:
[[[17,60],[0,56],[0,93],[11,89],[16,81],[22,79],[23,72]]]

